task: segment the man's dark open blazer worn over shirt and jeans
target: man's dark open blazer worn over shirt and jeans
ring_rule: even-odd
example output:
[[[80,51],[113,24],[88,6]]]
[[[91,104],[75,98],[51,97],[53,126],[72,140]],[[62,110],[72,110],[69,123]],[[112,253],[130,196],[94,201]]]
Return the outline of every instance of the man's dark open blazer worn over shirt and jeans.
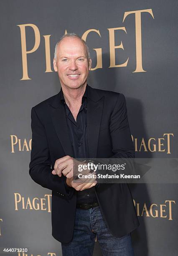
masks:
[[[121,93],[87,85],[87,130],[89,158],[133,158],[125,97]],[[66,177],[51,174],[56,159],[73,156],[61,93],[31,110],[32,150],[29,174],[42,187],[52,190],[52,236],[69,243],[73,236],[76,190],[69,196]],[[127,184],[95,187],[100,209],[113,236],[121,237],[138,227],[132,195]]]

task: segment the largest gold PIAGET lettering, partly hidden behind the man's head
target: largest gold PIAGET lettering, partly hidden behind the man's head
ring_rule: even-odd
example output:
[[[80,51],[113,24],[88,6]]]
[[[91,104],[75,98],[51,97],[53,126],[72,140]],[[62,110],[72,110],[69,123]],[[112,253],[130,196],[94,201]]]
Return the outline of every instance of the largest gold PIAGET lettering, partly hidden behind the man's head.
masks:
[[[146,72],[146,70],[143,69],[142,67],[142,30],[144,27],[142,27],[142,19],[141,16],[144,15],[143,13],[149,13],[152,18],[153,16],[153,11],[152,9],[145,9],[145,10],[135,10],[135,11],[129,11],[124,13],[124,18],[122,20],[122,23],[125,22],[127,19],[128,15],[132,15],[133,19],[135,20],[135,60],[136,60],[136,69],[133,71],[135,72]],[[40,30],[35,24],[20,24],[17,25],[20,28],[20,38],[21,38],[21,52],[22,52],[22,68],[23,68],[23,76],[20,80],[29,80],[31,79],[28,75],[28,60],[27,56],[28,54],[33,54],[37,49],[40,47],[41,44],[41,35],[40,35]],[[27,41],[27,36],[26,36],[26,28],[30,27],[33,29],[33,34],[34,34],[34,45],[33,48],[30,50],[27,50],[26,47],[26,41]],[[115,50],[120,49],[124,50],[124,46],[122,44],[122,36],[120,36],[120,44],[115,45],[115,31],[124,31],[124,33],[127,34],[127,30],[125,27],[121,26],[118,28],[107,28],[109,31],[109,57],[110,57],[110,65],[109,68],[113,67],[127,67],[129,57],[126,57],[126,60],[124,63],[116,63],[115,61]],[[67,33],[67,30],[65,30],[65,34]],[[102,38],[102,35],[99,30],[97,29],[89,29],[83,33],[82,38],[84,41],[86,41],[87,36],[89,36],[89,33],[97,33],[97,35]],[[51,35],[44,35],[43,42],[45,46],[45,57],[46,57],[46,71],[45,72],[53,72],[51,69],[51,54],[50,54],[50,36]],[[134,42],[133,42],[134,43]],[[96,53],[96,59],[97,59],[97,64],[95,67],[92,67],[91,70],[95,69],[102,69],[102,48],[94,48],[93,49]],[[118,53],[117,53],[118,54]]]

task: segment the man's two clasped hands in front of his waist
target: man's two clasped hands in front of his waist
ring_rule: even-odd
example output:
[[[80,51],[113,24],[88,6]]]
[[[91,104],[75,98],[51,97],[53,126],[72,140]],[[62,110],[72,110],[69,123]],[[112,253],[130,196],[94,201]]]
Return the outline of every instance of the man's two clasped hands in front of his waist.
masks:
[[[97,184],[96,178],[97,176],[94,175],[92,178],[82,178],[74,179],[74,165],[78,166],[81,164],[86,164],[84,162],[77,161],[76,159],[72,158],[71,156],[64,156],[56,160],[54,164],[54,170],[52,171],[52,174],[58,175],[59,177],[66,176],[66,183],[69,187],[73,187],[77,191],[81,191],[84,189],[88,189],[91,187],[94,187]],[[86,169],[82,171],[82,174],[88,174],[90,172],[90,169]],[[77,176],[76,176],[77,177]]]

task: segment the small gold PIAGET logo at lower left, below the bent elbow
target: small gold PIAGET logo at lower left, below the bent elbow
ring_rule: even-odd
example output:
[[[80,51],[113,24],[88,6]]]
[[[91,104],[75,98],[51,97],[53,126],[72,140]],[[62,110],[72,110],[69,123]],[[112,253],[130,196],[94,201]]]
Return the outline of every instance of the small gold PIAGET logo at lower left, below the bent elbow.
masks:
[[[42,210],[51,212],[51,195],[44,195],[44,198],[22,197],[20,193],[14,193],[15,210]]]

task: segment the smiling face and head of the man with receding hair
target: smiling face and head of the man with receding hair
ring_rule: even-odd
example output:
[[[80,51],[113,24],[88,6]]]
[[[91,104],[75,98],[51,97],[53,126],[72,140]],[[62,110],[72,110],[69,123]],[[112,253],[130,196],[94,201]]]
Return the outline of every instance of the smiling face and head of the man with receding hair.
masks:
[[[61,86],[76,89],[86,83],[91,69],[83,42],[76,37],[65,37],[58,44],[54,70],[58,72]]]

